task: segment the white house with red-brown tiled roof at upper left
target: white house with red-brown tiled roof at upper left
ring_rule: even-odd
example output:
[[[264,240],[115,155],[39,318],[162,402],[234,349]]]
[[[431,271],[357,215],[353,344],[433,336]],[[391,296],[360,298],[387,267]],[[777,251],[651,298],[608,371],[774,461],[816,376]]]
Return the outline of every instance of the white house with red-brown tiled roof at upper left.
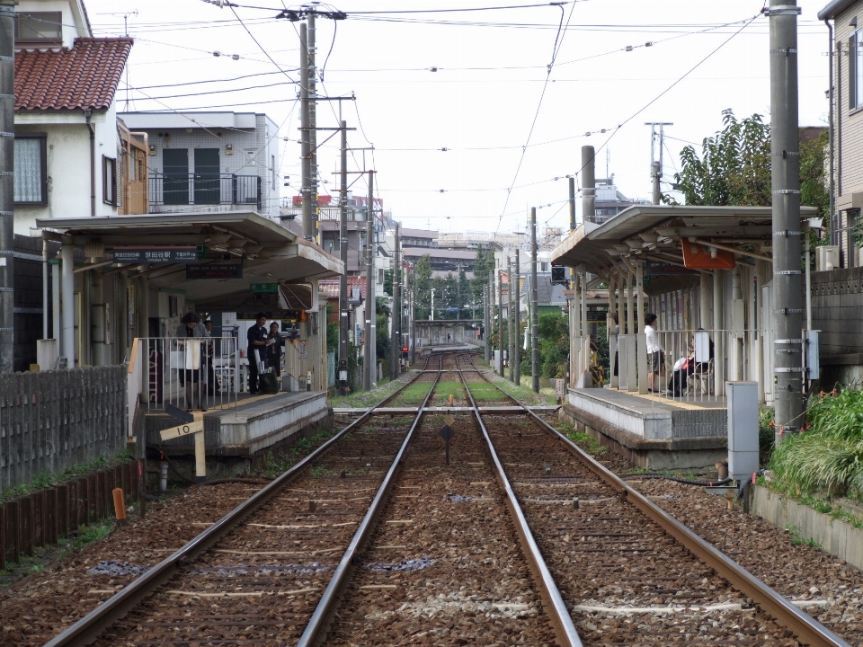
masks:
[[[115,216],[113,99],[132,40],[93,38],[82,0],[15,9],[15,233],[37,218]]]

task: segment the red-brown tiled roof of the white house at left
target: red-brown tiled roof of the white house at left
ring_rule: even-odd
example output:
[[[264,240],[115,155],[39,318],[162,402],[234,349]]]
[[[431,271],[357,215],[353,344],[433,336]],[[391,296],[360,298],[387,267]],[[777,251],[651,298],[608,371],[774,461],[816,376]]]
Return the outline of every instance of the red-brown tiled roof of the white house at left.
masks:
[[[15,52],[15,110],[107,110],[132,39],[78,38],[72,49]]]

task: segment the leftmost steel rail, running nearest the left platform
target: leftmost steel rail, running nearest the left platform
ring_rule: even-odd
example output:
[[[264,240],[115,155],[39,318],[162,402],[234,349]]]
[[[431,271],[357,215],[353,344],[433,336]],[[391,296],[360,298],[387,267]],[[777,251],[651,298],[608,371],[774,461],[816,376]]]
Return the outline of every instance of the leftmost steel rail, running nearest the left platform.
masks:
[[[441,360],[442,366],[442,360]],[[423,366],[428,367],[428,358]],[[413,379],[405,382],[405,386],[397,389],[392,394],[387,395],[378,404],[369,407],[360,414],[357,420],[352,421],[347,427],[337,433],[332,439],[327,440],[321,447],[317,448],[311,454],[303,458],[297,465],[291,467],[287,472],[281,474],[269,485],[263,487],[260,491],[255,492],[251,497],[240,503],[234,510],[228,512],[224,517],[220,518],[215,524],[204,530],[200,535],[195,536],[186,545],[182,546],[178,551],[166,557],[162,562],[157,563],[152,569],[141,575],[137,580],[132,581],[124,589],[120,589],[111,598],[108,598],[101,605],[94,608],[86,616],[79,619],[74,625],[68,626],[62,633],[54,636],[43,647],[72,647],[77,645],[86,645],[93,643],[100,634],[121,617],[126,616],[131,609],[136,607],[138,603],[151,596],[156,588],[165,581],[173,577],[177,569],[196,559],[200,554],[209,550],[212,545],[239,525],[243,519],[260,508],[262,504],[269,501],[270,498],[279,492],[282,487],[292,482],[298,474],[307,465],[310,465],[317,458],[323,456],[327,451],[334,447],[335,443],[343,437],[344,434],[359,426],[362,422],[367,421],[372,412],[379,407],[382,407],[390,400],[401,393],[407,386],[422,375],[423,371],[416,371]],[[431,391],[429,392],[431,394]]]

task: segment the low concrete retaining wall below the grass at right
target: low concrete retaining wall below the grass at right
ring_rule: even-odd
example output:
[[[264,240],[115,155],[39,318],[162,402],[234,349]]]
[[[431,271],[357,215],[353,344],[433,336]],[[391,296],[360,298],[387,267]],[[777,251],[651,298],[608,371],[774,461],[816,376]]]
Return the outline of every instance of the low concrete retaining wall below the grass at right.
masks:
[[[863,530],[850,523],[816,512],[759,485],[754,487],[752,514],[767,519],[774,526],[793,526],[799,536],[812,539],[827,553],[863,568]]]

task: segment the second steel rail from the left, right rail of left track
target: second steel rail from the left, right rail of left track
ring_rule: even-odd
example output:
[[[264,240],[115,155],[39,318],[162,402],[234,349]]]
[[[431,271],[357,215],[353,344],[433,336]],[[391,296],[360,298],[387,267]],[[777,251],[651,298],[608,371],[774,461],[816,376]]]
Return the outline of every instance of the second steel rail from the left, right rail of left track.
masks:
[[[429,357],[431,357],[431,355]],[[426,364],[426,366],[428,366],[428,364]],[[353,568],[353,560],[360,552],[363,545],[365,545],[372,530],[377,526],[376,522],[378,520],[378,514],[383,509],[384,503],[387,501],[387,496],[392,483],[395,481],[396,472],[401,468],[405,451],[407,451],[407,447],[410,445],[411,439],[414,438],[414,431],[420,426],[420,421],[423,419],[423,414],[425,413],[423,411],[425,409],[425,405],[429,402],[429,398],[432,397],[435,386],[438,386],[438,380],[440,380],[442,368],[443,357],[441,356],[441,370],[438,371],[437,376],[434,378],[432,388],[429,389],[429,393],[426,394],[425,399],[423,400],[423,405],[416,413],[414,424],[411,425],[411,429],[407,432],[405,441],[402,443],[402,447],[398,450],[398,454],[396,454],[393,464],[390,465],[387,475],[380,484],[378,493],[375,495],[374,500],[371,501],[371,505],[369,506],[369,510],[366,512],[366,516],[362,519],[360,527],[357,528],[357,532],[351,539],[351,543],[348,545],[347,550],[342,556],[342,560],[336,567],[333,577],[330,578],[330,583],[324,590],[324,595],[321,596],[321,599],[318,601],[315,613],[313,613],[312,617],[309,619],[308,624],[306,625],[306,630],[299,638],[297,647],[312,647],[312,645],[322,644],[325,640],[326,629],[329,626],[331,616],[335,611],[339,597],[343,591],[343,587],[351,580],[350,576]]]

